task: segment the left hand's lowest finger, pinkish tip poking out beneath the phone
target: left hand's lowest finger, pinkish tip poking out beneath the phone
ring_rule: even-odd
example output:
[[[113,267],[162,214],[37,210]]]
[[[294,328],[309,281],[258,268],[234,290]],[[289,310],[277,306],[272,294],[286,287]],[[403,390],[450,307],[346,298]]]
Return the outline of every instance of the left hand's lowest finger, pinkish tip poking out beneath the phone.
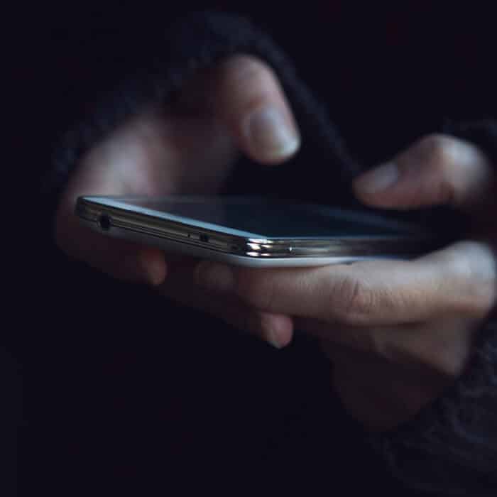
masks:
[[[291,342],[293,320],[290,317],[263,312],[233,296],[202,290],[194,283],[196,263],[191,258],[178,258],[171,263],[168,279],[160,286],[160,293],[182,305],[207,312],[278,349]]]

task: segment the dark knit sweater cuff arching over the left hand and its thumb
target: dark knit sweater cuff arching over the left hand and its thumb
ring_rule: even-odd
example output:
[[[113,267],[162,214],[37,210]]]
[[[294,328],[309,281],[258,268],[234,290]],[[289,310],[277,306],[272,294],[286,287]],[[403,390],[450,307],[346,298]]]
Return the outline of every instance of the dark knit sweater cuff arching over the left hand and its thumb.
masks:
[[[141,48],[139,62],[131,58],[133,67],[116,75],[116,85],[104,102],[62,137],[55,149],[53,169],[45,178],[45,198],[57,201],[75,165],[111,131],[145,107],[168,102],[196,72],[240,53],[261,58],[273,68],[300,125],[305,148],[319,155],[323,163],[342,165],[335,171],[337,182],[350,182],[359,165],[349,157],[324,107],[297,79],[282,51],[244,17],[199,12],[182,18],[164,33],[152,35]]]

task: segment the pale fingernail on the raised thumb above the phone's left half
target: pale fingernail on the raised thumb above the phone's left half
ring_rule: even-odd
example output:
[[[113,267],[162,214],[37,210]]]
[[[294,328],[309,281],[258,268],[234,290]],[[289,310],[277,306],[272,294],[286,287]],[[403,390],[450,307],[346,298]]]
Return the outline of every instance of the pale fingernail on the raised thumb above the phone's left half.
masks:
[[[247,133],[253,147],[273,158],[292,155],[300,144],[300,138],[275,107],[259,109],[249,116]]]

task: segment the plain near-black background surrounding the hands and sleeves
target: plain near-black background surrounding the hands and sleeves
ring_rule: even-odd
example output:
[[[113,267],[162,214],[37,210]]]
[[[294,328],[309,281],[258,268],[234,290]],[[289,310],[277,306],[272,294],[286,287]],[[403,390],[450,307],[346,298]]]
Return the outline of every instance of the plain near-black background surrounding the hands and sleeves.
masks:
[[[22,495],[165,493],[173,481],[227,474],[244,484],[267,477],[356,488],[357,468],[368,486],[382,481],[361,436],[342,435],[354,428],[346,417],[323,431],[334,400],[323,400],[329,371],[312,343],[277,353],[65,261],[51,241],[38,192],[60,133],[111,90],[154,33],[184,10],[212,6],[248,13],[273,35],[367,165],[446,117],[495,114],[493,26],[474,6],[114,1],[8,16],[4,224],[13,236],[4,246],[13,278],[0,341],[2,471],[6,484],[18,474]],[[339,464],[327,455],[336,445]]]

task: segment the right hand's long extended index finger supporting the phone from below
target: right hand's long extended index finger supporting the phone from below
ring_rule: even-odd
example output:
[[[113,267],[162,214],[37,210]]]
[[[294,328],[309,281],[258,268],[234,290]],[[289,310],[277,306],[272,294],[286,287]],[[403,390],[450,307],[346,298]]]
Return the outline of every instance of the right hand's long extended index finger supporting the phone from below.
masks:
[[[461,242],[415,261],[270,270],[201,263],[197,281],[266,312],[371,326],[486,315],[496,263],[488,246]]]

